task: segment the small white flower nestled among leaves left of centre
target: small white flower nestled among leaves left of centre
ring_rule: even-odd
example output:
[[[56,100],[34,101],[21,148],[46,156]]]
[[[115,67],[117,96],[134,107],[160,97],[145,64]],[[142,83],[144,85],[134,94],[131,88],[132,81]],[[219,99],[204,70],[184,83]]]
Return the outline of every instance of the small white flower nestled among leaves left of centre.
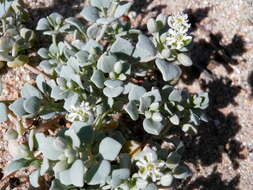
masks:
[[[91,111],[89,103],[82,102],[80,106],[72,106],[69,113],[66,116],[68,121],[83,121],[88,124],[92,124],[94,121],[94,115]]]

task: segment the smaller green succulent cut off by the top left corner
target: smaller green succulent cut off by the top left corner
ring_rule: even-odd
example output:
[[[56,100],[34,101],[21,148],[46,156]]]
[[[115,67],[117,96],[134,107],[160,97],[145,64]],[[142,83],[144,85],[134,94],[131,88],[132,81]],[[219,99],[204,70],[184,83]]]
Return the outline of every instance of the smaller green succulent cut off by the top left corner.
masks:
[[[19,0],[0,1],[0,69],[19,67],[29,61],[27,50],[31,48],[35,33],[24,26],[28,12]]]

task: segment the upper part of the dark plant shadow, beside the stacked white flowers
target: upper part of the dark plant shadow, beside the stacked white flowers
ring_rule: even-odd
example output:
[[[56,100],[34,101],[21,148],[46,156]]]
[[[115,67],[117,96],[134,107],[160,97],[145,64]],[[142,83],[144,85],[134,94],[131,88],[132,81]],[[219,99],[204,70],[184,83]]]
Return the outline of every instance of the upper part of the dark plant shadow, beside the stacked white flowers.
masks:
[[[229,74],[232,73],[233,65],[239,64],[235,56],[241,56],[246,52],[246,43],[242,36],[235,34],[229,44],[223,45],[221,32],[213,33],[200,24],[203,19],[208,17],[210,10],[210,7],[206,7],[194,11],[192,9],[184,11],[189,16],[190,32],[198,29],[205,33],[205,37],[208,39],[196,39],[189,47],[194,65],[184,68],[183,82],[186,84],[192,84],[199,79],[203,72],[213,76],[212,69],[219,65],[222,65]]]

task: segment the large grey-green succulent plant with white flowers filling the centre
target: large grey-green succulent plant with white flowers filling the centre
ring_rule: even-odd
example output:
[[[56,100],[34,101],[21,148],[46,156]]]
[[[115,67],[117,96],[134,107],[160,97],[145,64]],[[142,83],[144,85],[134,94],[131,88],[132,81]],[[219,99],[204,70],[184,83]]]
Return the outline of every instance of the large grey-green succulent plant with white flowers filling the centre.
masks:
[[[209,103],[207,93],[173,86],[180,65],[192,64],[186,55],[187,16],[159,15],[148,21],[150,34],[144,34],[122,21],[132,3],[90,2],[80,13],[88,24],[58,13],[39,20],[37,30],[52,37],[52,44],[38,51],[50,80],[38,75],[36,85],[24,85],[19,99],[8,107],[0,104],[0,121],[8,112],[42,120],[63,115],[71,126],[59,126],[51,135],[30,130],[5,173],[33,168],[30,183],[39,187],[48,174],[54,177],[51,190],[171,186],[190,171],[181,160],[183,143],[168,138],[176,136],[170,129],[196,133]],[[172,30],[183,37],[172,39]],[[68,35],[71,41],[64,38]],[[128,126],[131,120],[136,126]],[[17,138],[14,131],[7,135]],[[161,141],[170,148],[161,148]]]

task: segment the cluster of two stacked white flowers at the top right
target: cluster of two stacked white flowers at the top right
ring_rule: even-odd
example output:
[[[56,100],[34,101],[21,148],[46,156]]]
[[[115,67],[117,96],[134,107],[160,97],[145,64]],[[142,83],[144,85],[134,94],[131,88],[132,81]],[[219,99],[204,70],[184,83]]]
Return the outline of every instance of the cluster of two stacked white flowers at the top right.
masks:
[[[166,44],[171,49],[180,50],[191,42],[192,37],[187,35],[190,24],[186,14],[169,16],[168,25],[170,29],[167,33]]]

